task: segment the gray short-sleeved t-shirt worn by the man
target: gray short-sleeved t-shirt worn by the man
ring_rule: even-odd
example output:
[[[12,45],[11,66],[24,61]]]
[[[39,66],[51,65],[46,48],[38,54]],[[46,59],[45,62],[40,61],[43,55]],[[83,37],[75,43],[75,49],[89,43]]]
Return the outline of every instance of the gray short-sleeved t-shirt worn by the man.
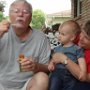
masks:
[[[34,57],[39,63],[49,61],[50,45],[44,33],[32,30],[28,40],[22,42],[12,27],[0,39],[0,83],[8,88],[21,88],[32,77],[32,72],[20,72],[17,61],[23,53],[26,57]]]

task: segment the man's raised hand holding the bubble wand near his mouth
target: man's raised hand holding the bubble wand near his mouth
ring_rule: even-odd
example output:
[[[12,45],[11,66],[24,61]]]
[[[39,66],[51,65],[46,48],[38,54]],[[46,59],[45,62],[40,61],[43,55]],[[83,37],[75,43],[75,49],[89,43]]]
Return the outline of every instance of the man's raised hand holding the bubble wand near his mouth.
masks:
[[[2,37],[2,35],[8,31],[10,26],[10,23],[7,20],[3,20],[2,22],[0,22],[0,37]]]

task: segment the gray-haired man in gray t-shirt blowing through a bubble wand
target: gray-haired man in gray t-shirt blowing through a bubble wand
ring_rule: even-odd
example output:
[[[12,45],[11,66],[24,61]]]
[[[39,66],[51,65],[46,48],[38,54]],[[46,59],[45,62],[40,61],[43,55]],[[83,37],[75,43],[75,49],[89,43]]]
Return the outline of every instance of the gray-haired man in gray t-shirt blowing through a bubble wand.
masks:
[[[46,36],[29,26],[31,4],[14,1],[9,16],[0,23],[0,90],[47,90],[51,50]]]

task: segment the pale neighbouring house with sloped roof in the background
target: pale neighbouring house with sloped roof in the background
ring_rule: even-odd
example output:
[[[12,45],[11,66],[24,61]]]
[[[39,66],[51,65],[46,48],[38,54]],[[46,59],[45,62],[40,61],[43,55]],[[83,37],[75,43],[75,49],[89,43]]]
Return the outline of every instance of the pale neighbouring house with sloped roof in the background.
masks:
[[[71,10],[65,10],[57,13],[48,14],[46,16],[46,23],[49,26],[52,26],[56,23],[63,23],[64,21],[67,21],[71,19]]]

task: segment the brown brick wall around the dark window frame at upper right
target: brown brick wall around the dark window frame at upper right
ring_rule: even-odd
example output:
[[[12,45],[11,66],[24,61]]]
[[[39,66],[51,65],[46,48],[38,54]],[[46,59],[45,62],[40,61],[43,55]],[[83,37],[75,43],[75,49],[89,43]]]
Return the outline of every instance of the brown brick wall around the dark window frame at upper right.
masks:
[[[79,24],[83,24],[85,21],[90,19],[90,0],[82,0],[81,4],[81,15],[74,18],[75,15],[75,1],[71,0],[71,15],[72,18],[75,19]]]

